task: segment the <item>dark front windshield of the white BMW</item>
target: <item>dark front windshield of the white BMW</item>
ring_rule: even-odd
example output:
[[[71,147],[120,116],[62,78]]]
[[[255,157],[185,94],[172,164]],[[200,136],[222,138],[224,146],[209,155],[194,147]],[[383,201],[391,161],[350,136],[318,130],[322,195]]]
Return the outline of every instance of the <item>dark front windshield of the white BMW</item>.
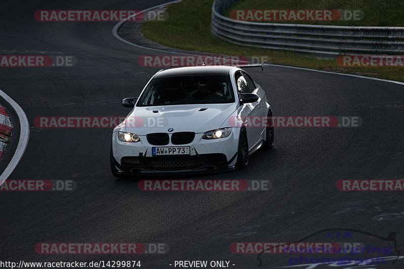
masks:
[[[232,102],[229,76],[182,76],[151,80],[137,106]]]

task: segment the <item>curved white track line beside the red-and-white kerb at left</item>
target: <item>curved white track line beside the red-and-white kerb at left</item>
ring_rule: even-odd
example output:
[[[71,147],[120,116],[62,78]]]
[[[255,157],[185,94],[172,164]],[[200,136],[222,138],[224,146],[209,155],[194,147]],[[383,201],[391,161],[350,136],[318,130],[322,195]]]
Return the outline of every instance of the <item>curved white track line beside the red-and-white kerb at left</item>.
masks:
[[[11,175],[11,173],[13,173],[14,169],[17,167],[22,158],[22,155],[25,152],[25,149],[27,148],[29,140],[29,122],[27,116],[25,115],[21,106],[18,105],[18,103],[16,103],[9,95],[7,95],[2,90],[0,90],[0,95],[17,112],[17,116],[20,121],[20,140],[18,141],[17,149],[14,152],[14,156],[12,157],[7,168],[4,170],[3,174],[0,176],[0,186],[2,186],[6,179]]]

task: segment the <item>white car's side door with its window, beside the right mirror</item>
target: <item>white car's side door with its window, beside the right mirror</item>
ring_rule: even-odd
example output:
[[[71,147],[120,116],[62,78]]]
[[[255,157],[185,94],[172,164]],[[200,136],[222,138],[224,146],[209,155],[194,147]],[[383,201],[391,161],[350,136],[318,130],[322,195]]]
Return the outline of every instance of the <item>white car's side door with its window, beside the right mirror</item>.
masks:
[[[237,71],[235,73],[235,82],[237,85],[238,93],[252,93],[255,89],[254,82],[252,82],[251,78],[248,77],[244,72]],[[252,82],[252,84],[251,84]],[[260,128],[253,126],[253,121],[255,121],[255,117],[258,113],[259,101],[255,103],[244,103],[242,104],[240,117],[244,121],[244,125],[246,126],[247,131],[247,140],[248,147],[251,149],[253,146],[257,144],[260,139]],[[258,130],[257,130],[258,129]]]

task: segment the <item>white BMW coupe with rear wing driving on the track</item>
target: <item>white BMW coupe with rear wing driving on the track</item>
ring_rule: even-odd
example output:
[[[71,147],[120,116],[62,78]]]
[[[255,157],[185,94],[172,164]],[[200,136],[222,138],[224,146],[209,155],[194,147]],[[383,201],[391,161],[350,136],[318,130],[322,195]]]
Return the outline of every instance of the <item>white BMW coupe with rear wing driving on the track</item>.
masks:
[[[245,168],[274,142],[272,109],[246,66],[178,67],[157,72],[112,135],[115,177],[195,174]],[[267,120],[263,120],[267,119]],[[253,122],[266,124],[252,124]]]

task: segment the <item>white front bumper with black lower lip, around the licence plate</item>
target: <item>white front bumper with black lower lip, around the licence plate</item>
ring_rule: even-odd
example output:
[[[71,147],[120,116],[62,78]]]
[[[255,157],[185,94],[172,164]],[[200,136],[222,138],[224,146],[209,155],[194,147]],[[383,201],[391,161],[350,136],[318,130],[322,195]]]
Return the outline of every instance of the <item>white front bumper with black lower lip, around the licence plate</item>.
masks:
[[[227,171],[235,168],[238,129],[233,128],[230,136],[221,139],[201,139],[196,134],[189,146],[190,155],[153,156],[152,147],[145,136],[138,143],[122,142],[113,133],[112,162],[119,174],[173,175]],[[171,135],[170,135],[171,136]],[[236,139],[237,138],[237,139]],[[170,137],[171,141],[171,137]],[[171,142],[165,146],[173,145]]]

